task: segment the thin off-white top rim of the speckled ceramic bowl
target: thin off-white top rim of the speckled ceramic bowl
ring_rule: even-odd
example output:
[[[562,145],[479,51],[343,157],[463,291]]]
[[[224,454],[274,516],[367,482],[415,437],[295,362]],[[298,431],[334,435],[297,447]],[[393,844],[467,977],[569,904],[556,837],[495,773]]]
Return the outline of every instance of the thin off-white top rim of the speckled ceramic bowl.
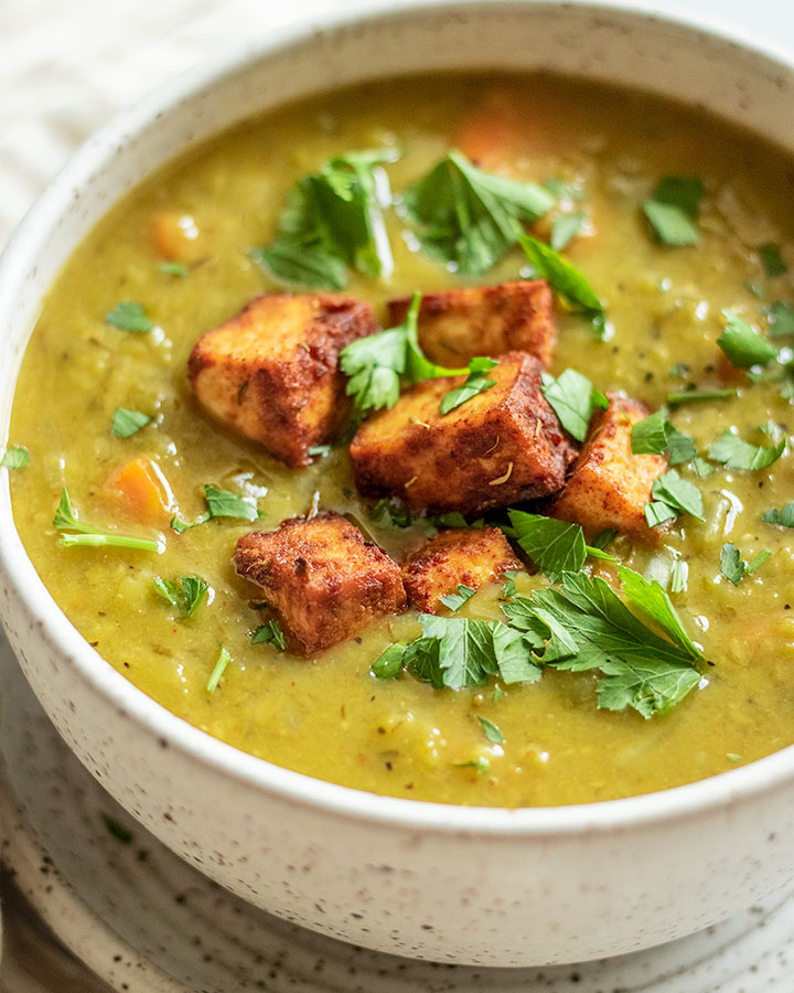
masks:
[[[69,160],[31,207],[0,258],[0,327],[10,322],[13,300],[25,277],[35,266],[37,246],[75,191],[85,190],[86,179],[100,163],[110,162],[119,147],[128,142],[158,116],[164,116],[191,96],[215,82],[238,73],[245,66],[293,45],[310,41],[318,32],[355,29],[373,20],[401,19],[416,13],[441,12],[453,7],[461,11],[487,7],[570,8],[623,17],[635,22],[667,24],[704,40],[728,43],[765,61],[784,74],[794,71],[794,51],[739,31],[721,18],[693,10],[665,10],[658,2],[626,4],[620,0],[372,0],[366,7],[347,11],[329,10],[288,28],[268,32],[258,42],[248,43],[179,75],[116,116],[96,132]],[[109,207],[108,207],[109,209]],[[8,430],[1,428],[2,438]],[[8,498],[8,473],[0,481]],[[9,501],[10,503],[10,501]],[[294,772],[240,751],[213,738],[172,714],[138,690],[96,652],[72,626],[46,590],[32,562],[19,549],[19,536],[10,514],[0,514],[0,575],[24,601],[31,617],[44,624],[53,645],[67,655],[81,676],[94,684],[117,708],[147,727],[153,736],[190,754],[203,764],[240,783],[288,797],[293,802],[369,822],[390,822],[409,829],[438,833],[464,833],[513,836],[572,835],[593,831],[627,830],[648,822],[665,822],[696,816],[707,809],[744,803],[754,797],[794,782],[794,745],[738,769],[732,769],[686,786],[622,800],[588,804],[540,808],[463,807],[384,797],[352,787],[325,782]],[[0,618],[1,619],[1,618]]]

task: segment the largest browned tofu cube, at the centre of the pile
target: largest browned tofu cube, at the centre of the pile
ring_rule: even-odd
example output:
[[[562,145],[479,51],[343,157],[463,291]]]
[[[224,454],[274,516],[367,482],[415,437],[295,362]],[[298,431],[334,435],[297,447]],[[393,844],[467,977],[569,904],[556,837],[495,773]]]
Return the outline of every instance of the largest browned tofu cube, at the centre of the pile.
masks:
[[[446,415],[441,398],[464,376],[406,391],[353,439],[360,491],[414,511],[463,514],[555,493],[576,453],[540,392],[540,372],[532,355],[503,355],[486,374],[496,385]]]

